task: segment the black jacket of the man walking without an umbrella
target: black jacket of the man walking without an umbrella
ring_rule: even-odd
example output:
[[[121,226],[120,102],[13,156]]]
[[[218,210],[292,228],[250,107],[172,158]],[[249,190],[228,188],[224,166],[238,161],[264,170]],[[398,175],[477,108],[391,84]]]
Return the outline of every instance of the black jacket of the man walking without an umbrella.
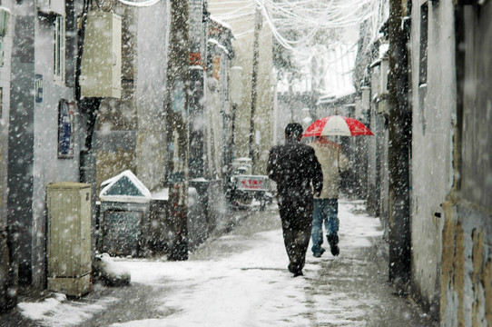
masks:
[[[323,173],[312,147],[297,140],[287,139],[284,145],[271,148],[267,164],[268,176],[277,182],[277,192],[282,198],[312,200],[313,191],[323,188]]]

